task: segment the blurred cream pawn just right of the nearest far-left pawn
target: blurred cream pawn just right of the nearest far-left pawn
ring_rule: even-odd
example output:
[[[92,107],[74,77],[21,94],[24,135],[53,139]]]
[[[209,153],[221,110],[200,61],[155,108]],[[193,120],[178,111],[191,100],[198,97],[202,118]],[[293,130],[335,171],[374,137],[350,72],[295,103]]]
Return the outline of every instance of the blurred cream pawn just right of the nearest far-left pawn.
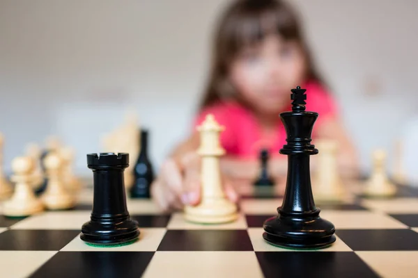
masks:
[[[43,161],[47,172],[47,190],[42,195],[42,202],[48,209],[68,209],[74,206],[74,197],[65,188],[62,177],[63,161],[52,152]]]

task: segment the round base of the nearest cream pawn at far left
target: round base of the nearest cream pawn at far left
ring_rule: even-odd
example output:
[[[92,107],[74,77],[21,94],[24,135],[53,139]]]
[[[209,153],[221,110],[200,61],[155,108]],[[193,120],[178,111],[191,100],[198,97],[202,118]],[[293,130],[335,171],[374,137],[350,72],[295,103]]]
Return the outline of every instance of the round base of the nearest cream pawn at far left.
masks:
[[[5,202],[3,205],[3,215],[9,217],[24,217],[40,213],[44,209],[42,202],[38,199],[22,201],[18,202],[17,200],[10,200]]]

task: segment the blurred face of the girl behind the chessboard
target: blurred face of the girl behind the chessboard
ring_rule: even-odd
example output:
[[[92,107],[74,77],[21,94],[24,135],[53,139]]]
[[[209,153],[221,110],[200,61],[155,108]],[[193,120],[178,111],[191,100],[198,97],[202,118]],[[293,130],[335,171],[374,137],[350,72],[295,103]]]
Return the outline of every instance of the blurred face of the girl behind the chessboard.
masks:
[[[277,114],[289,104],[291,89],[302,83],[305,66],[296,42],[271,35],[242,49],[231,64],[229,78],[240,97],[258,113]]]

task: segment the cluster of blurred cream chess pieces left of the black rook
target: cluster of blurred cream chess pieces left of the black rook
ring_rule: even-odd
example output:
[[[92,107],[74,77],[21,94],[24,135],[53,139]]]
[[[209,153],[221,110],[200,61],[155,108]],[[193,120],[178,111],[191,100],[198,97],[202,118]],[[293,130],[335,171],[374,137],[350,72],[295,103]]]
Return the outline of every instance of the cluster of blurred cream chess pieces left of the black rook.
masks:
[[[0,165],[3,143],[0,134]],[[82,181],[72,172],[74,155],[74,150],[62,146],[57,138],[48,138],[45,151],[39,145],[27,145],[26,154],[13,159],[10,179],[0,168],[2,214],[24,217],[74,207],[82,188]],[[15,183],[14,190],[11,183]]]

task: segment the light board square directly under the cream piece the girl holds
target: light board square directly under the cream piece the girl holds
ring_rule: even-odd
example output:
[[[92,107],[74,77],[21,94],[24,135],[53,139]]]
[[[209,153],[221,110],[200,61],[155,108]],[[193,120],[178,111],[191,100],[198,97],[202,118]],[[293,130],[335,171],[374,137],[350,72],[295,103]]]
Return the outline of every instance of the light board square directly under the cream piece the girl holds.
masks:
[[[171,220],[167,226],[168,229],[185,229],[185,230],[228,230],[228,229],[246,229],[247,223],[243,215],[240,215],[237,220],[224,224],[197,224],[185,220],[183,213],[173,213]]]

